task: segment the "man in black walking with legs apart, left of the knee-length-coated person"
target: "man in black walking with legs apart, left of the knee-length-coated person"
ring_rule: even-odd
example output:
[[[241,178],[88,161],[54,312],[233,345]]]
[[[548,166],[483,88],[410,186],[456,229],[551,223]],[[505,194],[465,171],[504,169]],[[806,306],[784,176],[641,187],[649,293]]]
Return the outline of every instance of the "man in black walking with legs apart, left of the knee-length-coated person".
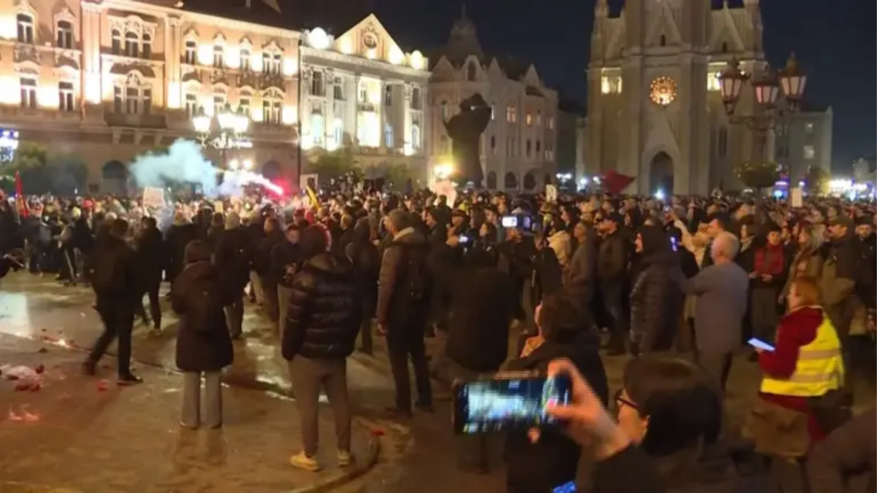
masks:
[[[92,287],[97,297],[97,312],[103,321],[103,332],[95,342],[89,359],[82,364],[86,375],[95,375],[97,361],[113,339],[118,337],[118,384],[142,382],[131,373],[131,332],[134,311],[140,291],[137,254],[125,243],[128,222],[115,219],[109,236],[96,247]]]

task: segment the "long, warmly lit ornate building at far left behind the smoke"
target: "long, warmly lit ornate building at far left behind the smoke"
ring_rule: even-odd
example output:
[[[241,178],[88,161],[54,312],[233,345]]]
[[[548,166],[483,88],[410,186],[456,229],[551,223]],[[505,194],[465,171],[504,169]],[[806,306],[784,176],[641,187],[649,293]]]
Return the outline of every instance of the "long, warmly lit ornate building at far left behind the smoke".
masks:
[[[253,143],[232,157],[291,176],[299,33],[180,4],[0,0],[0,127],[82,160],[89,191],[122,191],[135,156],[230,104]]]

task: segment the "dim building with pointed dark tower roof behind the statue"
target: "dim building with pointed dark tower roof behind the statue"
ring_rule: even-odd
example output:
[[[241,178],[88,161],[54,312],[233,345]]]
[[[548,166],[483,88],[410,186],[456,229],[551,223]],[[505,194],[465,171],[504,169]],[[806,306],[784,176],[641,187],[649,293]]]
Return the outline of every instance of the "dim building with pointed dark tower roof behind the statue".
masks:
[[[447,45],[430,57],[430,168],[453,166],[444,122],[460,111],[460,101],[480,92],[493,109],[481,136],[486,186],[538,189],[557,169],[557,92],[531,64],[485,54],[476,31],[464,8]]]

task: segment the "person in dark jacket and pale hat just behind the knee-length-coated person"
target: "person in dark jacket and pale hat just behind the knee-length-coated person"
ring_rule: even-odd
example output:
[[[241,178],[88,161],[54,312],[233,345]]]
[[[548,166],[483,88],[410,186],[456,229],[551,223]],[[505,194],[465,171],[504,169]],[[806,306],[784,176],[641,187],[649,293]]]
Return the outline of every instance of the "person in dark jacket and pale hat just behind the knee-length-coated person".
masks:
[[[250,263],[253,261],[252,243],[246,230],[240,227],[238,213],[231,211],[225,216],[225,231],[219,235],[215,263],[225,272],[226,282],[231,283],[235,296],[225,306],[228,329],[232,339],[239,339],[244,330],[244,289],[250,280]]]

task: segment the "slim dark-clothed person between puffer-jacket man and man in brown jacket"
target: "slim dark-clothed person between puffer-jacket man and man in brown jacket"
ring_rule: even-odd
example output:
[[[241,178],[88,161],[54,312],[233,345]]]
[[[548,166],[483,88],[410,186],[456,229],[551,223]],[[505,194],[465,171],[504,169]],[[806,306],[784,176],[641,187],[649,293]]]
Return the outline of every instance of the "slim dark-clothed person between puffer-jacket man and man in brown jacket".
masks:
[[[368,355],[373,352],[372,318],[378,297],[378,275],[381,273],[381,254],[371,241],[371,225],[368,218],[360,218],[353,226],[353,236],[345,249],[347,258],[353,261],[353,270],[362,296],[362,322],[360,350]]]

